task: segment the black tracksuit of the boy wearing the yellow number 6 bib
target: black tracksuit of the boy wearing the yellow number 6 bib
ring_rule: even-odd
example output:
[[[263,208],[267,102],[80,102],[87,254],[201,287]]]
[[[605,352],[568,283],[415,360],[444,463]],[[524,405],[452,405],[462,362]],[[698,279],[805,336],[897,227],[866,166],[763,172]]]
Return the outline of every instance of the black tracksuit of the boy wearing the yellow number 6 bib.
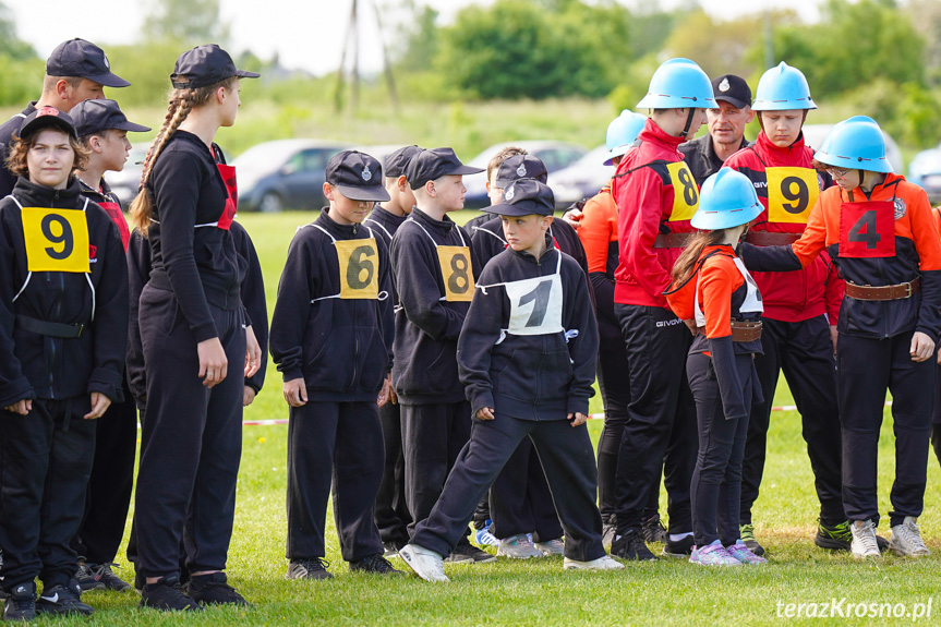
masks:
[[[378,300],[343,298],[338,243],[363,241],[360,256]],[[372,252],[362,255],[367,242]],[[343,253],[345,254],[345,253]],[[354,277],[357,278],[357,277]],[[363,225],[339,225],[327,209],[302,227],[288,250],[272,317],[272,355],[285,382],[302,378],[307,402],[290,409],[288,429],[288,559],[324,557],[330,483],[343,559],[381,555],[373,520],[383,477],[383,430],[376,398],[393,365],[393,312],[385,241]]]

